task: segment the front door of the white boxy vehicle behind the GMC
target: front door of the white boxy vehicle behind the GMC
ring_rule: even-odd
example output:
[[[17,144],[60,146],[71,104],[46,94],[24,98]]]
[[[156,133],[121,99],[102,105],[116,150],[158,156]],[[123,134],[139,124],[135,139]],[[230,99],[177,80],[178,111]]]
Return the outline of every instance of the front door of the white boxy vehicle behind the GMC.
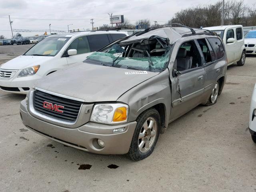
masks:
[[[225,35],[225,34],[224,34]],[[228,64],[232,63],[236,59],[236,41],[233,43],[228,43],[229,38],[235,38],[234,29],[228,29],[226,32],[226,53],[228,57]]]

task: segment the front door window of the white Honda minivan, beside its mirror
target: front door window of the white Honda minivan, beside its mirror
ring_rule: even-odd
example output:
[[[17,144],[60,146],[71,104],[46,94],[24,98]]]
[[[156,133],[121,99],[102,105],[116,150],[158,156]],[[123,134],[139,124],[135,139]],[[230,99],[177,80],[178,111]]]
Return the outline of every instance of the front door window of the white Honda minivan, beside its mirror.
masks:
[[[90,47],[86,36],[78,37],[68,46],[67,50],[76,49],[77,54],[89,53]]]

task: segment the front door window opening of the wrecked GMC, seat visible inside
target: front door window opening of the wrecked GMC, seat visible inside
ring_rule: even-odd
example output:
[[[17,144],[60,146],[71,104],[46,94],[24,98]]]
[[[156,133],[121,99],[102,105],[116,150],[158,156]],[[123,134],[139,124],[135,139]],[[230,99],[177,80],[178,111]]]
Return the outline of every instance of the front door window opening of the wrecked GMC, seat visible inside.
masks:
[[[201,57],[194,41],[184,42],[180,46],[174,65],[178,71],[201,66]]]

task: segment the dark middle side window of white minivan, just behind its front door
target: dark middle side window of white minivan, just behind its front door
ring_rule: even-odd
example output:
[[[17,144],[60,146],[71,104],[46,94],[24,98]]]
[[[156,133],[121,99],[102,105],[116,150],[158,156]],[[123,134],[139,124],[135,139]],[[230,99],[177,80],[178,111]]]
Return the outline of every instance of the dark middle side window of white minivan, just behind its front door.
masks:
[[[88,41],[92,52],[110,43],[107,34],[88,35]]]

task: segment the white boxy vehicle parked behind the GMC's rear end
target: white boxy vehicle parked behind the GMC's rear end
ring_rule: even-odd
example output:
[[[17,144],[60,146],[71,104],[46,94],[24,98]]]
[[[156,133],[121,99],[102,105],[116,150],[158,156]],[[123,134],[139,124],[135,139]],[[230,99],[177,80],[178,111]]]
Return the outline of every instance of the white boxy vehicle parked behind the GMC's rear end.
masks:
[[[237,63],[238,66],[244,65],[246,49],[242,25],[214,26],[203,29],[211,30],[222,38],[226,48],[228,66],[234,63]]]

